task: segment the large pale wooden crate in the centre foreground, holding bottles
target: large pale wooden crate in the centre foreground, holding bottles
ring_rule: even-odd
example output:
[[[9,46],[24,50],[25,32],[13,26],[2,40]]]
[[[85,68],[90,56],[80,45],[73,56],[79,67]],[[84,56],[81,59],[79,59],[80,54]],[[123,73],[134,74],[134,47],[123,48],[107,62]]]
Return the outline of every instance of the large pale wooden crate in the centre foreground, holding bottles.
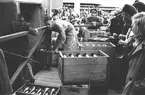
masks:
[[[97,57],[69,57],[69,54],[80,55],[92,53]],[[90,80],[106,81],[108,55],[100,50],[62,51],[59,52],[59,76],[63,84],[88,83]],[[64,57],[64,55],[68,57]]]

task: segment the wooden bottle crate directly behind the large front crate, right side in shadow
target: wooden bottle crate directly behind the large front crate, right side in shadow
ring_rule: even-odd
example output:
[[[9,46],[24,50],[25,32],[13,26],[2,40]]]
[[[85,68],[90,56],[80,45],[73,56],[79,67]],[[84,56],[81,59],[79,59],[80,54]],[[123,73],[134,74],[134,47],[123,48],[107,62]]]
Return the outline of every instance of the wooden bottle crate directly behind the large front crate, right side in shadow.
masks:
[[[91,85],[106,85],[115,82],[116,80],[116,46],[111,42],[80,42],[82,45],[82,50],[102,50],[109,56],[109,69],[108,69],[108,80],[109,83],[97,83],[92,81]]]

